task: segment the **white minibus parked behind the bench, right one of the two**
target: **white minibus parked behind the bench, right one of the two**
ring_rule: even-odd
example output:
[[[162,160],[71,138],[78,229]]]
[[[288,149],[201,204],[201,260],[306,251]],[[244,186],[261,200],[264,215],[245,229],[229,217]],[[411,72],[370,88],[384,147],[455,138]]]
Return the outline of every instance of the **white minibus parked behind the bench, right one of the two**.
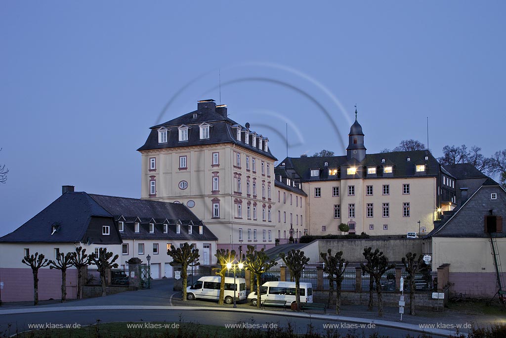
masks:
[[[313,303],[313,286],[311,283],[300,283],[301,303]],[[295,282],[265,282],[260,287],[262,302],[266,299],[286,301],[286,305],[296,302]],[[248,303],[257,306],[257,292],[248,294]],[[275,304],[273,304],[275,305]],[[282,305],[282,304],[281,304]]]

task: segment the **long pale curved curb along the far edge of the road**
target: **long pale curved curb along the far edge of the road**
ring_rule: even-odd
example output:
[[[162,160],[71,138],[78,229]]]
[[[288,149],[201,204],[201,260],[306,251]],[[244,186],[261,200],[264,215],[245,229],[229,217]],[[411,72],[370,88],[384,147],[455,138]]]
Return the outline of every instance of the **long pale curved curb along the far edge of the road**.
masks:
[[[304,312],[280,312],[280,311],[272,311],[272,310],[262,310],[258,311],[257,309],[228,309],[228,308],[216,308],[216,307],[181,307],[181,306],[72,306],[72,307],[44,307],[44,308],[21,308],[21,309],[10,309],[10,310],[0,310],[0,315],[15,315],[15,314],[25,314],[25,313],[41,313],[41,312],[60,312],[60,311],[97,311],[97,310],[168,310],[168,311],[222,311],[222,312],[242,312],[242,313],[261,313],[261,314],[271,314],[276,316],[284,316],[284,317],[296,317],[296,318],[313,318],[319,320],[329,320],[329,321],[340,321],[340,322],[348,322],[348,323],[358,323],[358,324],[374,324],[376,326],[382,327],[391,327],[398,328],[403,330],[408,330],[409,332],[420,332],[420,333],[430,333],[436,335],[442,335],[447,337],[453,337],[457,334],[455,331],[439,329],[439,328],[421,328],[417,324],[408,324],[408,323],[400,323],[400,322],[392,322],[387,320],[375,320],[375,319],[366,319],[366,318],[357,318],[357,317],[345,317],[345,316],[335,316],[335,315],[323,315],[323,314],[310,314]],[[467,333],[461,333],[466,337]]]

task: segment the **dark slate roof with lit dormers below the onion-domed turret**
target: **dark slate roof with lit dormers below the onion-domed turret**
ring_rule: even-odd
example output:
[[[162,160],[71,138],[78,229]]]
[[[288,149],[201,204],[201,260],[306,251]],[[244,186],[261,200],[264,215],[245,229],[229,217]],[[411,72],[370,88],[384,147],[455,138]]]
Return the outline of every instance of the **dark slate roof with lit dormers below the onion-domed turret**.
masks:
[[[425,157],[428,160],[425,160]],[[407,161],[407,158],[410,161]],[[382,163],[385,160],[385,163]],[[337,180],[340,179],[341,173],[336,176],[329,176],[328,169],[348,167],[348,166],[360,166],[365,170],[368,166],[384,166],[393,165],[394,173],[393,176],[388,177],[414,177],[414,176],[437,176],[439,175],[439,163],[427,151],[408,151],[408,152],[390,152],[390,153],[379,153],[379,154],[367,154],[362,162],[358,162],[355,159],[348,160],[346,156],[332,156],[332,157],[301,157],[301,158],[285,158],[285,171],[290,172],[293,169],[301,176],[302,181],[315,181],[315,180]],[[328,166],[325,166],[325,162]],[[426,164],[426,173],[423,175],[415,175],[415,165]],[[280,168],[276,167],[276,169]],[[311,169],[321,169],[319,177],[311,177]],[[381,168],[377,170],[377,177],[383,177],[383,171]],[[369,178],[364,175],[364,178]]]

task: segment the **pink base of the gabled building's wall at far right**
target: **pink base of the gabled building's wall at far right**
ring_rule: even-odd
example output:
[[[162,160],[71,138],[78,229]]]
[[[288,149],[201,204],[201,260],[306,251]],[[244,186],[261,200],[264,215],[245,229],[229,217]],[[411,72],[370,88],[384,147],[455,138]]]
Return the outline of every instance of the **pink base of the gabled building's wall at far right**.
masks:
[[[502,274],[506,277],[506,273]],[[450,292],[452,296],[492,297],[497,291],[497,277],[495,273],[451,272]]]

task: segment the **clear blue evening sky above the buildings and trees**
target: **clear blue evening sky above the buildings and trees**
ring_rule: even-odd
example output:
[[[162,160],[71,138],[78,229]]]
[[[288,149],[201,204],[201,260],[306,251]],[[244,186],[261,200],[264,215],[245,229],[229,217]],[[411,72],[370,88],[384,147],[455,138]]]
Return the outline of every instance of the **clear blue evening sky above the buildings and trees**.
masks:
[[[188,4],[189,3],[189,4]],[[278,159],[407,138],[505,148],[506,3],[4,1],[0,236],[61,194],[140,197],[149,127],[227,104]],[[221,70],[220,70],[221,69]],[[167,105],[168,103],[168,105]],[[167,105],[167,108],[164,107]]]

